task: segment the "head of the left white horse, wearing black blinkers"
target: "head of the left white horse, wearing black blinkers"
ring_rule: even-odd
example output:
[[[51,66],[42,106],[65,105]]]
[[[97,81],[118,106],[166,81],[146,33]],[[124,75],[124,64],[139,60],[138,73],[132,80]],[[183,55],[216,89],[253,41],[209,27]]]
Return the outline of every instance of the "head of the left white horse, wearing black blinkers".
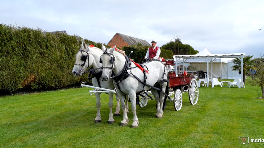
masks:
[[[82,42],[80,50],[76,54],[76,62],[72,69],[75,76],[81,76],[82,72],[93,64],[93,58],[89,57],[89,46]]]

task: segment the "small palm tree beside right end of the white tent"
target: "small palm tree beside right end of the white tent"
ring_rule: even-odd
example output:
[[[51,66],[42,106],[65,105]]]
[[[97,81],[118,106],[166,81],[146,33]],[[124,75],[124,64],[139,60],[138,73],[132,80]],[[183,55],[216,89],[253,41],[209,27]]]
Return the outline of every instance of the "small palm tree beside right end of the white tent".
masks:
[[[250,69],[251,68],[256,69],[254,66],[254,63],[251,59],[252,57],[253,57],[253,55],[247,55],[243,58],[243,82],[244,82],[244,84],[246,83],[245,82],[246,75],[249,74]],[[241,60],[236,58],[236,59],[232,60],[232,63],[235,64],[234,66],[231,67],[231,68],[233,68],[232,71],[238,71],[239,74],[241,74]]]

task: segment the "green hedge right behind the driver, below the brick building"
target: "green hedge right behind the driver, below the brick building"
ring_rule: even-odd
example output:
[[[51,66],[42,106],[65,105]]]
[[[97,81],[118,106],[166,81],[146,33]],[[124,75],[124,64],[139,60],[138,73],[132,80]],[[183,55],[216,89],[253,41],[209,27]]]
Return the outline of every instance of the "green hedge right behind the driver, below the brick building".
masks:
[[[141,63],[145,58],[145,55],[148,51],[149,46],[144,46],[141,43],[133,46],[124,46],[123,51],[125,51],[126,55],[129,55],[131,51],[133,53],[130,55],[130,59],[134,59],[136,63]],[[171,50],[165,50],[161,48],[161,53],[159,55],[164,59],[173,59],[173,52]]]

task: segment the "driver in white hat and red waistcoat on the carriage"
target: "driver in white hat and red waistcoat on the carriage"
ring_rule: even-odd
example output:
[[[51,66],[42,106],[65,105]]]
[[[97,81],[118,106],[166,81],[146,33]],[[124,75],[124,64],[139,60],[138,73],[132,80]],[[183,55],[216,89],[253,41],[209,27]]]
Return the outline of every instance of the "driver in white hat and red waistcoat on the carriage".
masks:
[[[155,39],[153,39],[151,41],[151,47],[149,47],[145,58],[143,59],[145,60],[157,60],[159,58],[159,54],[160,54],[160,48],[156,46],[157,41]]]

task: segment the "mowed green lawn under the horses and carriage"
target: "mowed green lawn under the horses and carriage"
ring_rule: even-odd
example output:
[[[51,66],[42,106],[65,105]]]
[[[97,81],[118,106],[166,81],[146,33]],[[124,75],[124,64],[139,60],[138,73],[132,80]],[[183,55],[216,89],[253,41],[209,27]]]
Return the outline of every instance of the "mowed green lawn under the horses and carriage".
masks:
[[[0,147],[264,147],[264,142],[239,144],[239,137],[264,139],[264,99],[257,98],[260,87],[245,86],[201,86],[196,105],[183,93],[182,109],[175,111],[167,100],[162,119],[155,117],[156,101],[149,100],[146,107],[137,106],[136,129],[130,128],[130,102],[129,125],[119,126],[123,116],[107,124],[105,93],[102,122],[94,123],[96,100],[89,88],[0,97]],[[114,99],[113,113],[115,107]]]

